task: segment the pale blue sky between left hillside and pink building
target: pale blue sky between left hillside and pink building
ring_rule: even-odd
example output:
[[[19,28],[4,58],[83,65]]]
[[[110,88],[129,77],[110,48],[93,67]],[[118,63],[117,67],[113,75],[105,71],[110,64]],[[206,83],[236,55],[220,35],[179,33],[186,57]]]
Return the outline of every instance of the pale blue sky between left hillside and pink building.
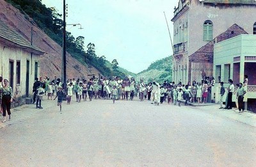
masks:
[[[150,63],[171,56],[172,45],[164,12],[173,38],[173,8],[178,0],[66,0],[67,31],[84,36],[84,49],[95,44],[97,56],[138,73]],[[63,13],[63,0],[42,0]],[[63,19],[63,18],[62,18]]]

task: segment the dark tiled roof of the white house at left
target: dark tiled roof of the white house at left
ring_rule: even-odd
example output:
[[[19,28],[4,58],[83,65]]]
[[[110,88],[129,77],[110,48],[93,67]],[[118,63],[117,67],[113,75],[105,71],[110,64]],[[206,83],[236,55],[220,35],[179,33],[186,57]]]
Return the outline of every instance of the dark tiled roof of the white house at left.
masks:
[[[19,47],[28,52],[33,52],[34,54],[44,54],[36,45],[31,45],[31,42],[27,40],[20,33],[12,28],[9,28],[3,21],[0,20],[0,42],[12,47]]]

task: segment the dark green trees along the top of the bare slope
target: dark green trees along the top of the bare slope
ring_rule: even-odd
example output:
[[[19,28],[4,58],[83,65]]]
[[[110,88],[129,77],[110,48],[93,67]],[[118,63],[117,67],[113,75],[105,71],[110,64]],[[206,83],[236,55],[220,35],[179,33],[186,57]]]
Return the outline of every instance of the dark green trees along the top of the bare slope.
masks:
[[[36,24],[36,26],[42,29],[54,42],[62,46],[63,20],[61,20],[61,14],[57,12],[56,8],[46,8],[40,0],[6,1],[19,9],[29,22]],[[119,71],[120,68],[118,64],[109,68],[109,65],[106,64],[106,57],[95,54],[95,45],[97,44],[89,43],[84,46],[84,36],[74,38],[74,36],[67,31],[67,52],[88,68],[88,70],[95,67],[99,70],[100,74],[104,76],[127,75],[125,74],[125,70],[123,70],[123,72]],[[81,70],[81,65],[74,65],[73,67],[77,68],[77,70]]]

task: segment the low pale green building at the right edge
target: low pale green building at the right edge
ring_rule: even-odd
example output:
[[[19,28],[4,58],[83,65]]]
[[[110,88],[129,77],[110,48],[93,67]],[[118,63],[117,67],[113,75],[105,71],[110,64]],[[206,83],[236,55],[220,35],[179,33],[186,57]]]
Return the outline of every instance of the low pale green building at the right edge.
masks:
[[[244,75],[247,75],[249,82],[244,102],[246,109],[250,111],[256,109],[256,106],[253,106],[253,103],[256,105],[255,48],[256,35],[239,35],[214,44],[214,76],[221,76],[225,81],[231,78],[236,85],[243,83]],[[236,101],[236,91],[233,101]]]

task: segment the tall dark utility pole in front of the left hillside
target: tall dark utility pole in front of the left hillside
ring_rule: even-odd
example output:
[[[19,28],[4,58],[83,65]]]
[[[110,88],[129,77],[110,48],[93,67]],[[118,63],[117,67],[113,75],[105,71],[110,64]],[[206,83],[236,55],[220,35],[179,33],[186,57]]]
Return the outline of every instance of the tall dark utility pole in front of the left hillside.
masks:
[[[63,83],[63,90],[66,91],[67,82],[67,58],[66,58],[66,1],[63,0],[63,45],[62,45],[62,70],[61,77]]]

